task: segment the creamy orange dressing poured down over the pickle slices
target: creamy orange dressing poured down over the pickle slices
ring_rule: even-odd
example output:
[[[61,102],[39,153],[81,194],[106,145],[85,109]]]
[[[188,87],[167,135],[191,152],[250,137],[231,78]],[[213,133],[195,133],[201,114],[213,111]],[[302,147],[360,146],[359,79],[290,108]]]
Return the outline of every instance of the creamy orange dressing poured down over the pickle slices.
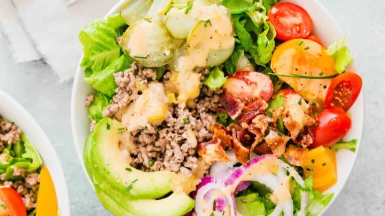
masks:
[[[185,54],[176,56],[176,71],[171,72],[176,83],[177,99],[182,103],[199,95],[201,75],[194,69],[206,67],[212,51],[233,49],[235,44],[233,25],[226,7],[217,4],[207,5],[205,1],[197,0],[188,11],[188,15],[201,21],[191,30],[187,37]]]

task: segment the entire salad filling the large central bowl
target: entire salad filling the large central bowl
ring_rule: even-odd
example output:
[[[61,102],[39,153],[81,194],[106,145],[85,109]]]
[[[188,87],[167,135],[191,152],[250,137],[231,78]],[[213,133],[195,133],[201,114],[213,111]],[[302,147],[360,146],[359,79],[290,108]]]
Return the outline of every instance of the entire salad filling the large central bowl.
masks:
[[[362,80],[276,0],[127,0],[79,34],[84,162],[115,215],[318,215]]]

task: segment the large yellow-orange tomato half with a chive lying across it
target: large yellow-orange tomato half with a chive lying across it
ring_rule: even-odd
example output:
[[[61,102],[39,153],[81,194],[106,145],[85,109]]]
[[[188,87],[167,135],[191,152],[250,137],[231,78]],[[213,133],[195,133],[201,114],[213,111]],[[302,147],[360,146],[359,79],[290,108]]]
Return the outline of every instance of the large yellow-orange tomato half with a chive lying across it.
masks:
[[[308,39],[292,39],[279,45],[271,58],[274,73],[305,76],[329,76],[337,71],[334,60],[319,43]],[[311,79],[278,76],[308,101],[323,107],[331,78]]]

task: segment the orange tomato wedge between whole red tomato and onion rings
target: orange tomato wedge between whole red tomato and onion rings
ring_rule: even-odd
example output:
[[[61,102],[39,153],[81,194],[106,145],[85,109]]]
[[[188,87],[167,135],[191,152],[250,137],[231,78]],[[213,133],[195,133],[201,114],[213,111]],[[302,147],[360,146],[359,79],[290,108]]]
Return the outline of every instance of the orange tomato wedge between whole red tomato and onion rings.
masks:
[[[309,150],[302,159],[305,178],[313,172],[313,188],[324,191],[337,182],[337,164],[332,149],[318,146]]]

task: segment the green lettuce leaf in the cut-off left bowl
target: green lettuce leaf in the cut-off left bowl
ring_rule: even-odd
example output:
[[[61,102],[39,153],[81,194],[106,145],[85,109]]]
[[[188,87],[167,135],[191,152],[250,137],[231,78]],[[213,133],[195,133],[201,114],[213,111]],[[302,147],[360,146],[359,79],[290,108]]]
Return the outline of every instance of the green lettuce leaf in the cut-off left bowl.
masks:
[[[27,139],[24,133],[21,134],[21,139],[24,141],[25,153],[22,154],[22,158],[31,160],[31,163],[26,168],[27,172],[36,171],[43,164],[42,157],[40,156],[38,150],[32,145],[32,143]]]

